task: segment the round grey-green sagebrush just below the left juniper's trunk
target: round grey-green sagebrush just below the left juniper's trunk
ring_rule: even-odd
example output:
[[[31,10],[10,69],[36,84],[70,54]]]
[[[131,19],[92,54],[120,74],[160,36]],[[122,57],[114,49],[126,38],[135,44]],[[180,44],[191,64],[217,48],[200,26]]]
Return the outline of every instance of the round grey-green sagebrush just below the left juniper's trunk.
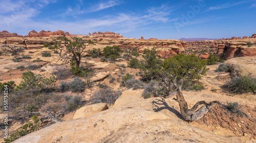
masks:
[[[72,92],[83,92],[86,89],[84,81],[78,77],[69,82],[69,88]]]

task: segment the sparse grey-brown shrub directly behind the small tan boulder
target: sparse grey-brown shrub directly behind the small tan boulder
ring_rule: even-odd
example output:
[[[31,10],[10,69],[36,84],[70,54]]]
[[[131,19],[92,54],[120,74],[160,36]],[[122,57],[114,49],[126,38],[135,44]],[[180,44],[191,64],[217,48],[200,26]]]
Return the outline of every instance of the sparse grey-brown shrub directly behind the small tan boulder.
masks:
[[[92,103],[107,103],[110,105],[115,103],[121,94],[121,91],[114,91],[110,88],[103,88],[97,90],[91,97],[90,101]]]

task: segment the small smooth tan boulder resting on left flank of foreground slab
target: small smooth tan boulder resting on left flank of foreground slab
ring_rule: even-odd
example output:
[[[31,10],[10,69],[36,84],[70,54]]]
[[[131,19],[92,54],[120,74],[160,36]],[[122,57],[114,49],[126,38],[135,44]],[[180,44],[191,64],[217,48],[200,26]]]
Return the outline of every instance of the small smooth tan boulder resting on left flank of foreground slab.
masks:
[[[108,104],[106,103],[97,103],[97,104],[87,105],[79,108],[75,112],[73,119],[88,117],[88,116],[94,115],[97,112],[103,111],[107,108],[108,108]]]

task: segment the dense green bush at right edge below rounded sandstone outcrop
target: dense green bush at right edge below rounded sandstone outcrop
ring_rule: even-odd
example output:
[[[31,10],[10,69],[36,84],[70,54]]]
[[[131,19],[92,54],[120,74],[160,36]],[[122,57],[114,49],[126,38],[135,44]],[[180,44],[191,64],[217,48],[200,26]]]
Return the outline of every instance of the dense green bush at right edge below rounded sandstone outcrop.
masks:
[[[224,88],[236,94],[252,92],[256,94],[256,78],[251,75],[232,77],[226,82]]]

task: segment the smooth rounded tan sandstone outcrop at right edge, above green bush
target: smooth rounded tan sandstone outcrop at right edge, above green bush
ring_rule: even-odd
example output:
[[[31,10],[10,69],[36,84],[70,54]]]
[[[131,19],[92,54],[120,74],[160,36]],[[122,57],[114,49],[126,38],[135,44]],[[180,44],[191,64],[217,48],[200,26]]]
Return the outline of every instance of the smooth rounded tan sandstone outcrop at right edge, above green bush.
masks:
[[[240,76],[251,74],[256,77],[256,56],[238,57],[225,61],[231,76]]]

